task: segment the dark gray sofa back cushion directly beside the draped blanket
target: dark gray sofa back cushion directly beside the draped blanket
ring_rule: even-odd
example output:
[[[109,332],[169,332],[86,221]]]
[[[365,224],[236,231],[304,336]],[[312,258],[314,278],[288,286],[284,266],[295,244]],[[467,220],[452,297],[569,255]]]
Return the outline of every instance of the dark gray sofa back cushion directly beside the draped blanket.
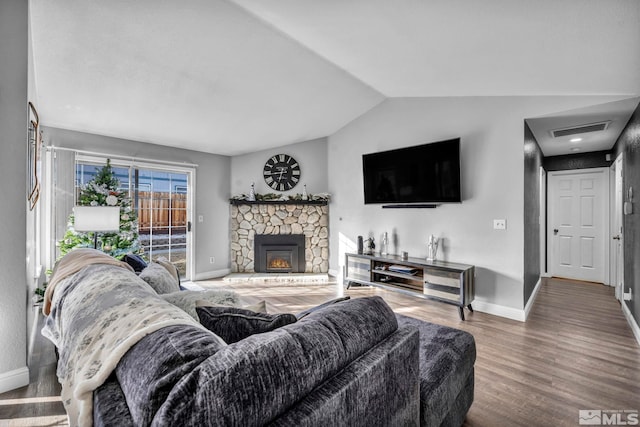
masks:
[[[133,424],[150,425],[174,385],[224,347],[220,337],[191,325],[168,326],[138,341],[115,371]]]

